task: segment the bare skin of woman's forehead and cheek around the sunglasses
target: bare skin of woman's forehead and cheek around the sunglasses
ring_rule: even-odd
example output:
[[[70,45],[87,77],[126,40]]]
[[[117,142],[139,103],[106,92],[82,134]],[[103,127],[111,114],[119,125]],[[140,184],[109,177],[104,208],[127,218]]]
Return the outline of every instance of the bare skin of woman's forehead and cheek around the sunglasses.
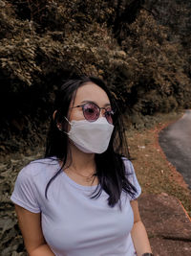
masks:
[[[89,103],[89,102],[95,103],[99,107],[106,107],[106,108],[111,107],[110,100],[106,92],[92,81],[86,82],[84,85],[80,86],[77,89],[76,95],[74,98],[74,103],[72,101],[70,107],[73,107],[76,105],[84,105],[85,103]],[[104,116],[104,112],[105,110],[101,109],[99,117]],[[83,115],[82,107],[70,108],[68,119],[69,121],[84,120],[85,117]]]

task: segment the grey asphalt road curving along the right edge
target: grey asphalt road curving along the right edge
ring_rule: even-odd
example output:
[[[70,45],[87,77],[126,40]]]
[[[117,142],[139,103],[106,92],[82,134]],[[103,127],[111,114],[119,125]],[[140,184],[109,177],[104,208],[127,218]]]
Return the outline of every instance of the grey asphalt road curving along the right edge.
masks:
[[[159,132],[159,145],[191,189],[191,110]]]

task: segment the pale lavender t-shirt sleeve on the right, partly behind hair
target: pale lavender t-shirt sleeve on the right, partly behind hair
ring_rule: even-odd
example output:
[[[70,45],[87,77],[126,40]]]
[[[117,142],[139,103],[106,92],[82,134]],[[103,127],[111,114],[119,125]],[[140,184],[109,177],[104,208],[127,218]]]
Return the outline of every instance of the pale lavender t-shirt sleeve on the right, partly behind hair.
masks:
[[[129,182],[131,182],[131,184],[137,189],[137,193],[135,194],[134,198],[130,197],[130,200],[137,199],[141,194],[141,188],[138,183],[138,178],[136,176],[134,166],[132,162],[128,159],[124,160],[124,164],[125,164],[126,175]]]

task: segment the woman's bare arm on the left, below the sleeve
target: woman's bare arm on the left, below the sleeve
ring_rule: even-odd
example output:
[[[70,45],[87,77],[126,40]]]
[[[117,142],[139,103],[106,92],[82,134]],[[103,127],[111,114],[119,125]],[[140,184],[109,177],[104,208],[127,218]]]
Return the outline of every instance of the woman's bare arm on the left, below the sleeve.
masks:
[[[15,204],[15,211],[24,244],[30,256],[54,256],[46,244],[41,228],[41,214],[32,213]]]

